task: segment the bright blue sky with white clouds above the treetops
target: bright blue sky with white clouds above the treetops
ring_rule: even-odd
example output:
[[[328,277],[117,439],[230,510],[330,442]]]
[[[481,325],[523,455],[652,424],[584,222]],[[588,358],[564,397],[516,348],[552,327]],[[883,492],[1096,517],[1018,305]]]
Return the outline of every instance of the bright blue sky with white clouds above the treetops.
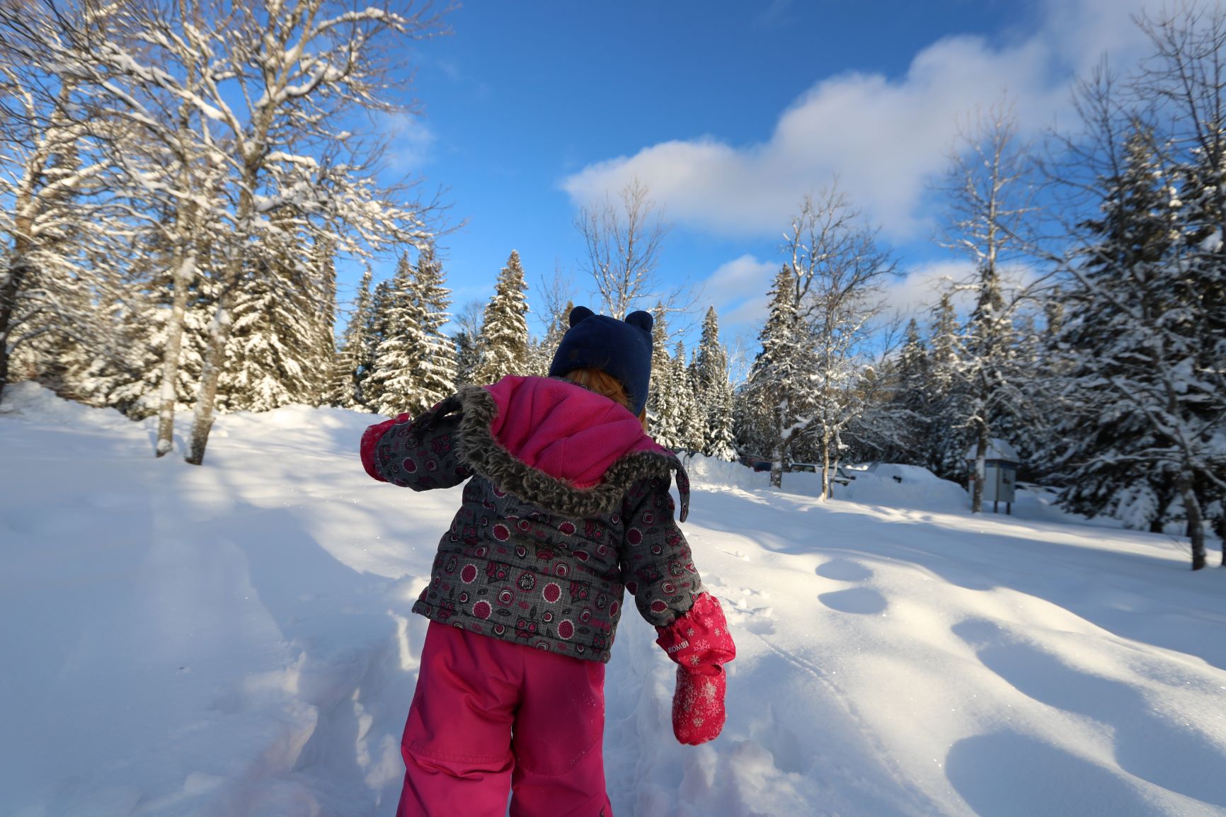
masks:
[[[726,336],[756,332],[804,193],[840,185],[881,228],[918,309],[964,261],[933,240],[956,119],[1008,92],[1037,131],[1103,52],[1127,61],[1134,0],[473,0],[414,52],[422,115],[395,167],[445,188],[455,309],[517,249],[530,304],[555,266],[577,302],[579,206],[638,178],[673,229],[661,274],[701,287]],[[342,277],[345,285],[352,277]],[[650,304],[641,304],[650,307]]]

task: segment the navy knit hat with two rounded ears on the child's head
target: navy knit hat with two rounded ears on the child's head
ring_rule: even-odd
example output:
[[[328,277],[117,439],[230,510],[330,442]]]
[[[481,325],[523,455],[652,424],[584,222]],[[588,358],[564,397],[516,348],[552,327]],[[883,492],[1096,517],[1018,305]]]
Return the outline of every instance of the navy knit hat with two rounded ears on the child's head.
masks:
[[[625,320],[597,315],[587,307],[570,310],[570,329],[562,337],[549,377],[575,369],[601,369],[625,388],[634,413],[647,405],[651,382],[651,313],[631,312]]]

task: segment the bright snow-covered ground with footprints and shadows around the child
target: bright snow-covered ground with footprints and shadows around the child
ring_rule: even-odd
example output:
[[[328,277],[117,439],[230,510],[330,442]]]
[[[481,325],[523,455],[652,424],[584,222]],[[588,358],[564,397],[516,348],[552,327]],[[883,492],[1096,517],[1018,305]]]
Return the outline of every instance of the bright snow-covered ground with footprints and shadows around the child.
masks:
[[[391,815],[459,488],[367,477],[371,417],[218,420],[204,467],[28,384],[0,415],[0,815]],[[1226,815],[1226,570],[1026,494],[922,475],[820,503],[694,462],[684,530],[739,655],[672,738],[631,611],[607,676],[615,812]],[[792,493],[798,491],[798,493]],[[1210,554],[1217,563],[1217,554]]]

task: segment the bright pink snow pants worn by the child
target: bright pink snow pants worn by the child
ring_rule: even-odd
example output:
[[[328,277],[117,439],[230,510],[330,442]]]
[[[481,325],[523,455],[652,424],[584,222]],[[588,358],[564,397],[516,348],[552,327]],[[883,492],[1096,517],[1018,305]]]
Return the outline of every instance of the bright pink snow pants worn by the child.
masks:
[[[430,622],[396,817],[612,817],[604,665]]]

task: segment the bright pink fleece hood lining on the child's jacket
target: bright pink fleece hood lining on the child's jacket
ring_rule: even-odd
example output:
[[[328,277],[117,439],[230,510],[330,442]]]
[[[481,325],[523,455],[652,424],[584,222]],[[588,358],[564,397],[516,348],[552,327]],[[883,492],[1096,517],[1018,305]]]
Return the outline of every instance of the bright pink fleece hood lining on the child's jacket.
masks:
[[[505,377],[485,389],[498,406],[489,427],[494,439],[526,465],[575,488],[600,485],[626,454],[672,456],[628,408],[568,380]]]

